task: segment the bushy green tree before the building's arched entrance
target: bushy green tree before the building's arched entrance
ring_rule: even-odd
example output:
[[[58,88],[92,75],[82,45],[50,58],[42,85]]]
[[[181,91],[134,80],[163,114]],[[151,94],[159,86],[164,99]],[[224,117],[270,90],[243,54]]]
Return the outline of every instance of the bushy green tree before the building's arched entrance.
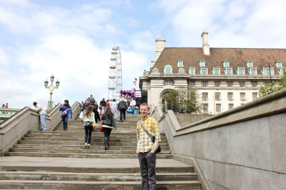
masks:
[[[194,88],[187,90],[180,87],[164,95],[167,109],[174,113],[202,113],[203,103],[201,96]],[[165,112],[165,104],[161,103],[162,111]]]

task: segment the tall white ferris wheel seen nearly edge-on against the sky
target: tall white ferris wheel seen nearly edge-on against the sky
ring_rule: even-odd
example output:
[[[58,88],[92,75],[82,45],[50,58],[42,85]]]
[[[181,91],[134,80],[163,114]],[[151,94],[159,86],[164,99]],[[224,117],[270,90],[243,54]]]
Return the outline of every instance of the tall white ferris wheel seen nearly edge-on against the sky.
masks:
[[[120,90],[122,89],[122,67],[121,53],[119,46],[114,46],[111,52],[109,79],[108,79],[108,99],[120,101]]]

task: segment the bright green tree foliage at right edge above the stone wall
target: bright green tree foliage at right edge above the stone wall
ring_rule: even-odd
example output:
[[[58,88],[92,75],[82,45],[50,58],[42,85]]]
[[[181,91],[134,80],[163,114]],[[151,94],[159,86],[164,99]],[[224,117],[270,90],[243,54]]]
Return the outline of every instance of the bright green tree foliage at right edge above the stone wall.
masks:
[[[271,94],[273,92],[277,92],[281,89],[286,88],[286,70],[283,70],[283,75],[281,77],[281,82],[278,83],[277,87],[274,87],[274,81],[272,81],[271,83],[265,84],[264,86],[260,87],[260,90],[258,91],[259,97],[263,97],[266,96],[267,94]]]

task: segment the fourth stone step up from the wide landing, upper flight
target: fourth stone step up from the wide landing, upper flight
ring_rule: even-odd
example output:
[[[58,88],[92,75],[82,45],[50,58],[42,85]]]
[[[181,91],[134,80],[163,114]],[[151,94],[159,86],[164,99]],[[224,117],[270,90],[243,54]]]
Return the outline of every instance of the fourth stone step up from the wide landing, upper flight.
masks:
[[[91,139],[92,140],[92,139]],[[110,139],[111,141],[111,139]],[[18,144],[62,144],[62,145],[82,145],[84,141],[78,140],[78,141],[54,141],[46,139],[45,141],[37,141],[37,139],[32,140],[18,140]],[[92,146],[99,146],[103,142],[93,142],[93,140],[90,142]],[[133,146],[136,147],[137,143],[130,143],[130,142],[110,142],[110,146]],[[160,143],[160,146],[169,146],[168,143]]]

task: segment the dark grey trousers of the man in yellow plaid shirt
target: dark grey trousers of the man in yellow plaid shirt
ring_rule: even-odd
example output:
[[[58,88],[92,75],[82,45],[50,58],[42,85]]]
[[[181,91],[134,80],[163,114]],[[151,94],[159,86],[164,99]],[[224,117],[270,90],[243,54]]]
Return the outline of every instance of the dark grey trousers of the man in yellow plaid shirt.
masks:
[[[156,152],[139,152],[138,159],[141,171],[141,190],[156,189]],[[150,186],[149,186],[150,182]]]

